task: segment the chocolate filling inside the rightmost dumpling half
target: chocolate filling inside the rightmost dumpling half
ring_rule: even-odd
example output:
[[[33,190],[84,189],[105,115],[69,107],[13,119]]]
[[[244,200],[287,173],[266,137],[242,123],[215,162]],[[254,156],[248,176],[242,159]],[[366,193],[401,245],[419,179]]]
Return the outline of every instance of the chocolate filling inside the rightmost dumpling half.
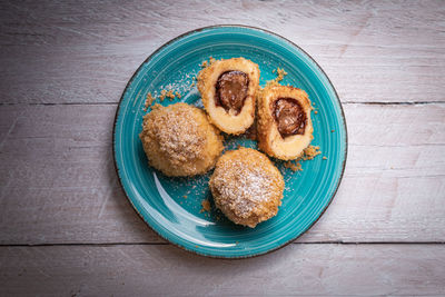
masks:
[[[278,98],[274,102],[273,112],[283,138],[305,133],[306,113],[297,100]]]

